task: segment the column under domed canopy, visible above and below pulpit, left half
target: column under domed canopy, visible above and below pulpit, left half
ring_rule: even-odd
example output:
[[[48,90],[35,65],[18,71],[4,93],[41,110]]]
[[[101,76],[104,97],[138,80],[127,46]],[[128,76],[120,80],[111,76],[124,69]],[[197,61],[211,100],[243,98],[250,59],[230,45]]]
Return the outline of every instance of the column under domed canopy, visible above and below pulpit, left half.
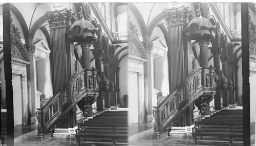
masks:
[[[91,44],[87,42],[81,42],[79,44],[81,45],[81,49],[82,49],[82,62],[81,62],[82,69],[91,69],[91,61],[90,61]],[[88,116],[89,117],[93,116],[92,105],[90,105],[89,107]]]

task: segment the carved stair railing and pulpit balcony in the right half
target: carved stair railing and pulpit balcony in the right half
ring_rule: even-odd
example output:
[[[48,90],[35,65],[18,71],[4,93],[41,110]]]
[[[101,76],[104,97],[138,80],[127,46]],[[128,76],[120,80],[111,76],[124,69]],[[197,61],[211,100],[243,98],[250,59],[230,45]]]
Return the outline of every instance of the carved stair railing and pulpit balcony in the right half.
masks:
[[[200,68],[181,82],[176,89],[154,107],[153,135],[169,131],[185,109],[200,96],[213,98],[215,91],[214,68]],[[212,99],[209,99],[209,101]]]

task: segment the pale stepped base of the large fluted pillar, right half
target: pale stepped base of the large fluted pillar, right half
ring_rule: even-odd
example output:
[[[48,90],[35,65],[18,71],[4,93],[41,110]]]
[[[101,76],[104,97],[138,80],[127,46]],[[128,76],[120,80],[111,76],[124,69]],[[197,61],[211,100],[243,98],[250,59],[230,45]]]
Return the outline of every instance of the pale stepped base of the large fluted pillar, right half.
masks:
[[[193,127],[194,125],[185,127],[173,127],[172,130],[170,131],[170,136],[191,137]]]

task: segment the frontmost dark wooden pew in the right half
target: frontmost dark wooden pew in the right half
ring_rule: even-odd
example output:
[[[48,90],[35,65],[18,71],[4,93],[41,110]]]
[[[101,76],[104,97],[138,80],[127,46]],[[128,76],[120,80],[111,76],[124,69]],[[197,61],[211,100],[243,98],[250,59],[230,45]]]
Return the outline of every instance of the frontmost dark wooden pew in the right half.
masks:
[[[223,126],[226,128],[220,128],[217,130],[216,129],[210,129],[205,128],[205,125],[207,126]],[[227,137],[229,139],[229,144],[232,145],[232,141],[235,138],[243,138],[243,122],[238,121],[238,122],[230,122],[230,121],[200,121],[200,122],[195,122],[195,127],[193,128],[193,142],[197,144],[197,136],[210,136],[210,137]],[[212,127],[212,128],[214,128]]]

